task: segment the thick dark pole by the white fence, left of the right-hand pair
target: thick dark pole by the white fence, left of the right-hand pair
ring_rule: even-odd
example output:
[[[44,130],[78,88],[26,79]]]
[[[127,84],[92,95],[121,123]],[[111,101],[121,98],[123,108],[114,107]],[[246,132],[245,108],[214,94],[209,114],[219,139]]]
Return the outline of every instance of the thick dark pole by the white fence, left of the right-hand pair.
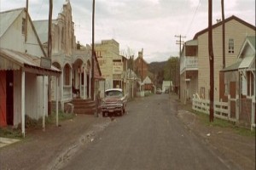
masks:
[[[208,0],[208,50],[210,63],[210,122],[213,122],[214,117],[214,55],[212,48],[212,0]]]

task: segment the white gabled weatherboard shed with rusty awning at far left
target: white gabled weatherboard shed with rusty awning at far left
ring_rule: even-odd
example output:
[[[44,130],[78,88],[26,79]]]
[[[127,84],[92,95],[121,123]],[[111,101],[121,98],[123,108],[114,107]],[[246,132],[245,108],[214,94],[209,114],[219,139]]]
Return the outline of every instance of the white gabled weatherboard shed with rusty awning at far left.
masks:
[[[26,8],[0,13],[0,127],[39,119],[48,109],[48,76],[61,71],[51,65]],[[43,124],[44,126],[44,124]]]

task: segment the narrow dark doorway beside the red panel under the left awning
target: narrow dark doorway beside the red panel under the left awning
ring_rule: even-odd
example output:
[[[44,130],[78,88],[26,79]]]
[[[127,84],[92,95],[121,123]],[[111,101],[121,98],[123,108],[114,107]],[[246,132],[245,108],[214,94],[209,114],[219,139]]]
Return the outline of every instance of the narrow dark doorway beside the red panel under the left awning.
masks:
[[[6,121],[14,124],[14,71],[6,71]]]

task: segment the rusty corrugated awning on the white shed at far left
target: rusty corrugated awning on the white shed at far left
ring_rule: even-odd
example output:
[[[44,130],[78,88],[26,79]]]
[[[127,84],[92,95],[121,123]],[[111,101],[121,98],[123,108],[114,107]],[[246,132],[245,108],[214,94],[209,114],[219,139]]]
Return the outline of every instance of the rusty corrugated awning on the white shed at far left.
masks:
[[[41,58],[31,54],[20,53],[11,49],[0,48],[0,71],[20,70],[44,76],[59,76],[61,71],[55,66],[41,66]]]

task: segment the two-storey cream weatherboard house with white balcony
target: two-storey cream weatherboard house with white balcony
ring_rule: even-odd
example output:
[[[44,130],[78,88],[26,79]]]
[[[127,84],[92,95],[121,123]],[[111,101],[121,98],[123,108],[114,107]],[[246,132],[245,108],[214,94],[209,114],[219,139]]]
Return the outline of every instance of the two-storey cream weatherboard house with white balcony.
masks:
[[[219,71],[223,69],[222,24],[225,26],[225,65],[236,62],[245,37],[255,35],[252,26],[232,15],[212,26],[214,54],[214,100],[223,100]],[[180,98],[183,102],[192,101],[193,94],[201,99],[209,99],[209,54],[208,29],[195,34],[192,40],[184,43],[180,59]]]

